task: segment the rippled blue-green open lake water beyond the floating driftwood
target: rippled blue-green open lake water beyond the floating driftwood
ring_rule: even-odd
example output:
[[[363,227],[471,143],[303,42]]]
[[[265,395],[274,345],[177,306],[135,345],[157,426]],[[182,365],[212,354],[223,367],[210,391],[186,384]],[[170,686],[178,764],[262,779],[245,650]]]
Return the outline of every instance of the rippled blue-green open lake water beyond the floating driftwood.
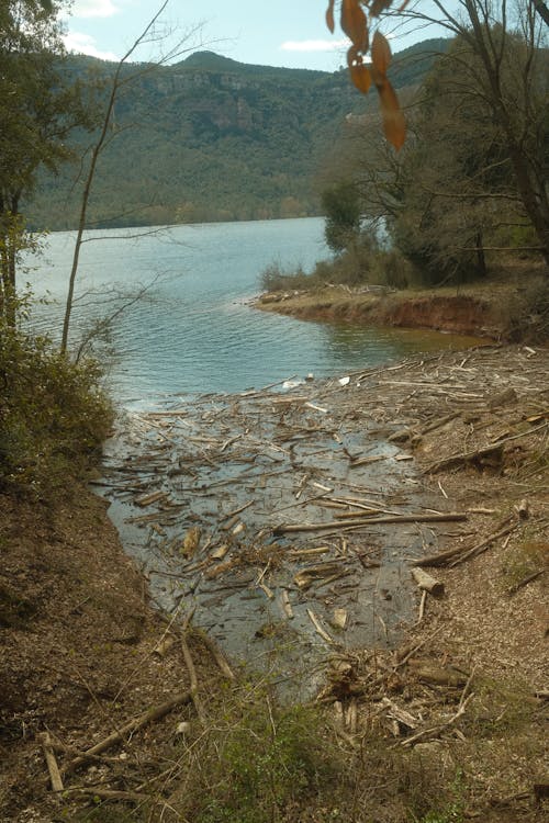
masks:
[[[110,341],[113,392],[126,406],[155,406],[173,394],[261,387],[293,375],[345,373],[452,342],[430,332],[303,323],[249,306],[270,263],[310,270],[329,256],[323,228],[322,218],[306,218],[179,226],[133,237],[127,235],[137,229],[89,232],[72,342],[113,311],[112,288],[127,293],[154,278],[147,296],[116,319]],[[37,307],[35,324],[54,337],[74,241],[72,232],[52,235],[27,277],[36,295],[49,295],[48,304]]]

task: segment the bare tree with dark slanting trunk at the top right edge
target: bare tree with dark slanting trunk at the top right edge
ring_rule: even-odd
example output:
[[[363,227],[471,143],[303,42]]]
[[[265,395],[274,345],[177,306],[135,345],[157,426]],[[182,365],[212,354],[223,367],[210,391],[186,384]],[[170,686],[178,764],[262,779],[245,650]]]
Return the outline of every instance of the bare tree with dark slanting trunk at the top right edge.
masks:
[[[445,26],[467,46],[463,54],[453,54],[455,84],[500,129],[516,192],[549,275],[547,29],[528,0],[458,0],[456,13],[441,0],[432,4],[432,14],[418,10],[405,14]]]

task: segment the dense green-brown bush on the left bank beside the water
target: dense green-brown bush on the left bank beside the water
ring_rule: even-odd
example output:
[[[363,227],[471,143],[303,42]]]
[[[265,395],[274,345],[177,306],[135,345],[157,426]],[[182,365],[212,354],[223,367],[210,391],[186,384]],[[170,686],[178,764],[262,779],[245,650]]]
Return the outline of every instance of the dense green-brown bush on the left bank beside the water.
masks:
[[[112,425],[97,361],[0,326],[0,486],[44,495],[83,476]]]

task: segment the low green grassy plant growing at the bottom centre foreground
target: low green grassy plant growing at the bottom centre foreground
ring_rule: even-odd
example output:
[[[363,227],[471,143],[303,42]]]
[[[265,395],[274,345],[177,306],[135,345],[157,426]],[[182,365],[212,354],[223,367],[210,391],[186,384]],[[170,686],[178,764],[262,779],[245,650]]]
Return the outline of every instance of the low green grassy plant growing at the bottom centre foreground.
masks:
[[[288,809],[343,779],[336,749],[318,709],[277,706],[260,689],[234,704],[210,732],[210,759],[201,754],[208,789],[195,789],[197,823],[270,823]],[[214,756],[212,756],[214,755]]]

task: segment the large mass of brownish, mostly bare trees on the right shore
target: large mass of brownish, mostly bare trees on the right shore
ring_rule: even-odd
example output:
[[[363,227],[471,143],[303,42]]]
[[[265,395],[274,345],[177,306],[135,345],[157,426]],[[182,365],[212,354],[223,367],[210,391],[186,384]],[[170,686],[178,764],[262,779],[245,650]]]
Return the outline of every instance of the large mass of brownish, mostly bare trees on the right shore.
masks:
[[[432,15],[405,12],[442,23],[455,42],[408,105],[400,155],[365,124],[349,129],[360,150],[344,149],[358,158],[362,214],[389,224],[413,260],[442,277],[482,271],[485,237],[505,223],[531,225],[549,260],[547,32],[526,0],[459,4],[460,18],[438,0]]]

